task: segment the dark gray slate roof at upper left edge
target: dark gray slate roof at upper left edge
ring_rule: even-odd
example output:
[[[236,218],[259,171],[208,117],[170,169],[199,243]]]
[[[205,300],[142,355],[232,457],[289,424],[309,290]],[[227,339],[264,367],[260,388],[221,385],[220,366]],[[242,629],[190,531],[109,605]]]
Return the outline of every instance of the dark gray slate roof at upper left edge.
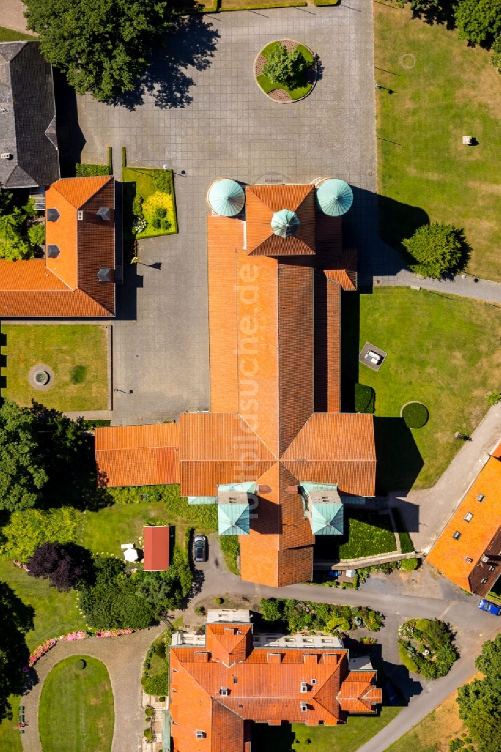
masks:
[[[52,67],[37,41],[0,43],[0,183],[49,186],[59,178]]]

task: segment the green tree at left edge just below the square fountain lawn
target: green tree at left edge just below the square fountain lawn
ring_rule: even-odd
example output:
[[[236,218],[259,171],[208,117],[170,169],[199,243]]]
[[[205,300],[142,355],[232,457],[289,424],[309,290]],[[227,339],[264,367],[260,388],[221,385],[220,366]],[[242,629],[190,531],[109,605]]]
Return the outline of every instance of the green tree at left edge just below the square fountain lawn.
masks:
[[[35,506],[48,475],[38,447],[35,414],[5,400],[0,407],[0,509]]]

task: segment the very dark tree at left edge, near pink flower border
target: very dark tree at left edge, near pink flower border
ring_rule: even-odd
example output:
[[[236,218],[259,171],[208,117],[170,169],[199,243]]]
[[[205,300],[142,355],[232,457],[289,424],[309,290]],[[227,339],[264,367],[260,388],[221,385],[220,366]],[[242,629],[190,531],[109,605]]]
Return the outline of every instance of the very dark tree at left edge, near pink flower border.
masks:
[[[0,653],[2,653],[2,681],[0,681],[0,720],[12,718],[8,701],[10,695],[20,695],[23,690],[23,666],[28,663],[29,650],[26,632],[34,628],[35,609],[25,605],[14,590],[0,582]]]

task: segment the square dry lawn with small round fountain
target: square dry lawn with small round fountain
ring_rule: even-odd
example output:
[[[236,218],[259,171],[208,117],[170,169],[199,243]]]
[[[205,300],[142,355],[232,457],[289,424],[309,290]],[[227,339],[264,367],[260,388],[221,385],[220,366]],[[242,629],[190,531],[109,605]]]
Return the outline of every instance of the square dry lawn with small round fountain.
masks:
[[[108,408],[108,332],[87,324],[2,324],[2,397],[62,411]],[[5,362],[5,365],[3,365]],[[53,386],[34,389],[29,370],[48,365]]]

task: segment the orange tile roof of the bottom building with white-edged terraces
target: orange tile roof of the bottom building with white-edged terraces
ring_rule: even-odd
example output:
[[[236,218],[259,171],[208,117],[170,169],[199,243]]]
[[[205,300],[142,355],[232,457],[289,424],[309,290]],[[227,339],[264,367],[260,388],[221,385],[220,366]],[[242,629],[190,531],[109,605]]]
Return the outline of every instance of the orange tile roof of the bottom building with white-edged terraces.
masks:
[[[238,656],[227,650],[221,653],[218,640],[224,634],[232,644],[244,646]],[[381,703],[375,672],[349,672],[347,650],[253,649],[250,625],[242,624],[208,624],[206,635],[204,649],[172,647],[170,651],[176,752],[242,752],[249,732],[245,722],[317,726],[322,721],[335,726],[345,722],[350,708],[374,714]],[[208,651],[203,662],[197,660],[201,650]],[[304,693],[302,682],[307,685]],[[197,729],[205,733],[203,740],[197,740]]]

